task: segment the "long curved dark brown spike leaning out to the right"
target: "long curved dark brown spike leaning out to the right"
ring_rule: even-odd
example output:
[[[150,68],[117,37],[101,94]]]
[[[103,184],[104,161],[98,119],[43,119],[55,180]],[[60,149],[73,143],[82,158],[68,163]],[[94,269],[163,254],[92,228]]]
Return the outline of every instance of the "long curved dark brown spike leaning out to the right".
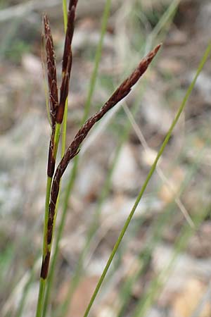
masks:
[[[139,80],[141,75],[145,73],[146,69],[148,68],[149,64],[153,60],[154,56],[157,54],[158,50],[160,49],[161,44],[155,47],[153,51],[151,51],[146,57],[144,57],[141,60],[141,63],[139,63],[139,66],[134,70],[132,75],[130,75],[127,80],[124,80],[122,82],[122,85],[118,87],[113,95],[108,99],[106,104],[102,106],[102,108],[94,114],[89,120],[87,120],[84,125],[82,125],[82,128],[79,129],[77,132],[77,135],[75,135],[75,139],[72,141],[70,146],[68,147],[67,151],[65,152],[65,155],[63,156],[63,159],[58,164],[58,168],[56,169],[56,173],[53,177],[53,183],[51,187],[51,199],[50,199],[50,205],[49,205],[49,230],[48,230],[48,243],[51,243],[52,239],[52,227],[53,227],[53,217],[55,215],[55,209],[56,209],[56,200],[58,197],[58,191],[59,191],[59,184],[60,184],[60,178],[62,177],[63,173],[65,172],[65,169],[68,166],[68,163],[71,159],[74,158],[79,152],[79,146],[82,144],[85,137],[87,137],[87,134],[89,130],[93,127],[93,125],[100,120],[115,104],[117,104],[120,100],[122,100],[127,94],[129,94],[132,87],[136,84],[136,82]]]

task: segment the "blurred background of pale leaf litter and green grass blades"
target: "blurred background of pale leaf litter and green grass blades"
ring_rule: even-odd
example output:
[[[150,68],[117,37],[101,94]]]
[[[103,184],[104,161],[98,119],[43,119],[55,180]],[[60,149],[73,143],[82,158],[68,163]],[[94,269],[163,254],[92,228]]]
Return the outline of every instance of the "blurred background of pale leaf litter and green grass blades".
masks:
[[[106,0],[79,0],[67,144],[84,118]],[[0,315],[34,316],[50,126],[41,65],[47,13],[60,86],[61,0],[0,1]],[[89,114],[141,58],[162,49],[91,131],[72,180],[49,315],[83,316],[124,221],[210,41],[208,0],[112,0]],[[90,316],[210,317],[211,64],[207,61]],[[73,163],[74,164],[74,163]],[[65,313],[64,313],[65,311]]]

